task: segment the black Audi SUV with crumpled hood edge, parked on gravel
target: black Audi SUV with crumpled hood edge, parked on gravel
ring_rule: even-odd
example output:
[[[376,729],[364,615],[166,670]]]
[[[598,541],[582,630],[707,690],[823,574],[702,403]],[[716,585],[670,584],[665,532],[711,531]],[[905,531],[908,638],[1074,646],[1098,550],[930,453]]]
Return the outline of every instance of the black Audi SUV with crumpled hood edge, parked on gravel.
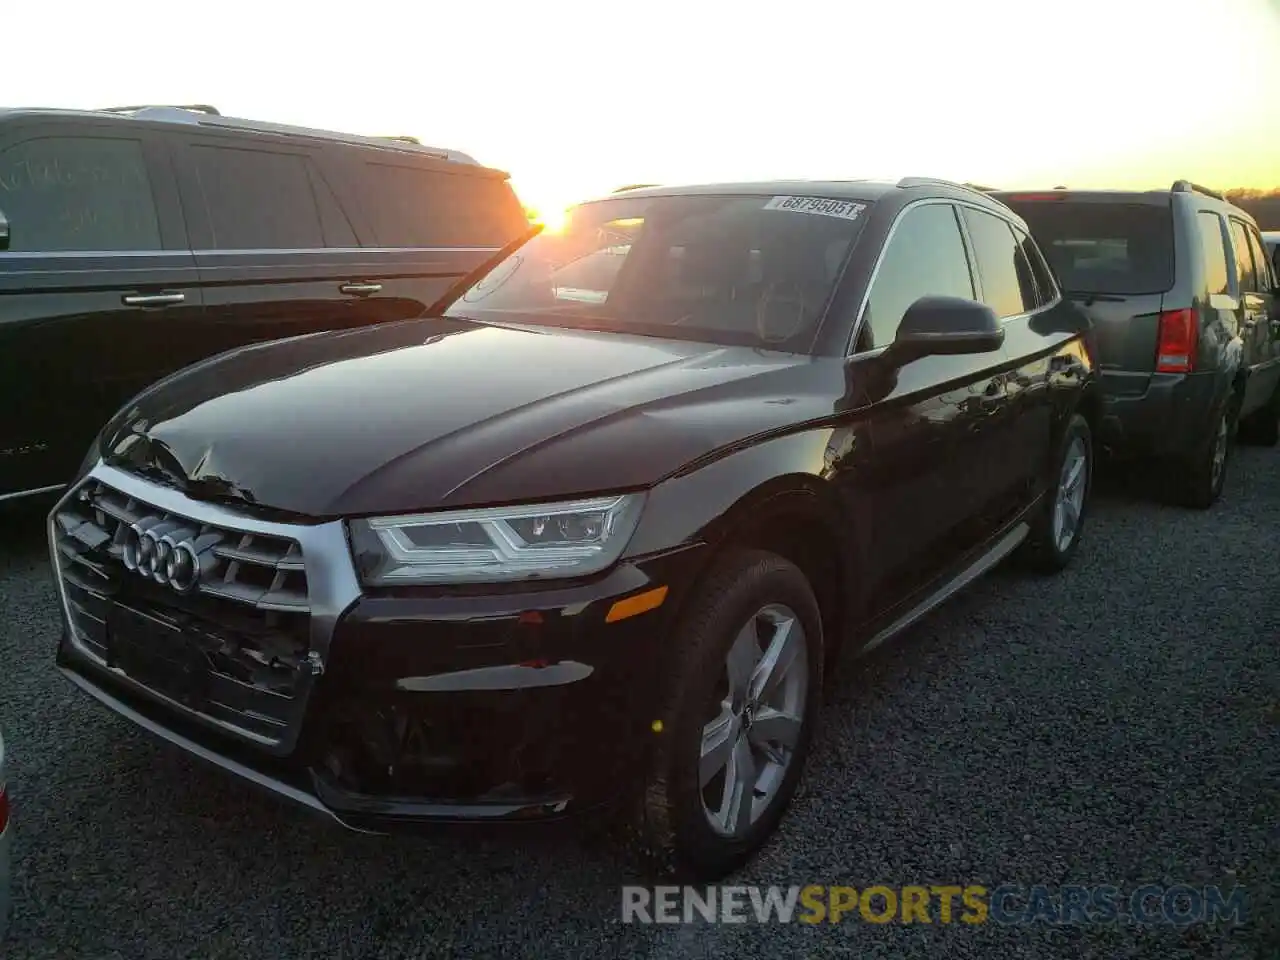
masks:
[[[782,817],[838,654],[1071,558],[1089,340],[956,184],[584,204],[439,316],[136,397],[50,515],[58,663],[349,827],[623,800],[718,877]]]

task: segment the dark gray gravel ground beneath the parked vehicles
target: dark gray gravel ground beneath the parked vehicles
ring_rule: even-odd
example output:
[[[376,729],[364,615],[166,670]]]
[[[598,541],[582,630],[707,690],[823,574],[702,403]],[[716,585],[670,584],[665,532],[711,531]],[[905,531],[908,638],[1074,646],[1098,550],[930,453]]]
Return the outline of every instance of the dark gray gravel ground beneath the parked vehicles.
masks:
[[[38,521],[0,515],[5,957],[1280,957],[1280,452],[1210,513],[1112,480],[1065,575],[997,571],[849,664],[737,882],[1244,886],[1240,928],[622,924],[616,844],[317,827],[51,669]],[[1268,892],[1270,891],[1270,892]]]

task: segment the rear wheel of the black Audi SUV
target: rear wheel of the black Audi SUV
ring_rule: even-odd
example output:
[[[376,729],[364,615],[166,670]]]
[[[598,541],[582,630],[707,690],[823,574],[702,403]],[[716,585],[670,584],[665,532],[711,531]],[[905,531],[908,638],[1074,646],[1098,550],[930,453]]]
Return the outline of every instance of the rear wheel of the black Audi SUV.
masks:
[[[1070,563],[1084,531],[1093,488],[1093,433],[1079,413],[1066,425],[1053,462],[1053,486],[1023,548],[1027,566],[1042,573]]]

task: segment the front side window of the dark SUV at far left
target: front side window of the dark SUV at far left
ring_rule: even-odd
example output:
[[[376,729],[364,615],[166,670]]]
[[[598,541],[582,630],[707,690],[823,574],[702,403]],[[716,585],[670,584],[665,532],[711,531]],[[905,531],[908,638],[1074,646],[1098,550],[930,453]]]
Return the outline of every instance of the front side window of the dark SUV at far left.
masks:
[[[42,137],[0,154],[0,210],[13,251],[160,250],[142,145]]]

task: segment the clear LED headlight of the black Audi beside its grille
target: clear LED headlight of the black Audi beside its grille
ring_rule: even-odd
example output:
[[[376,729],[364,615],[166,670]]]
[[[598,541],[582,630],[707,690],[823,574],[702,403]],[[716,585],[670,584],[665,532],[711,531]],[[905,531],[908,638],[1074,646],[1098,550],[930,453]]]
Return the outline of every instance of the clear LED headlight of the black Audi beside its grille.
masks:
[[[367,585],[500,582],[596,573],[635,532],[643,494],[351,521]]]

